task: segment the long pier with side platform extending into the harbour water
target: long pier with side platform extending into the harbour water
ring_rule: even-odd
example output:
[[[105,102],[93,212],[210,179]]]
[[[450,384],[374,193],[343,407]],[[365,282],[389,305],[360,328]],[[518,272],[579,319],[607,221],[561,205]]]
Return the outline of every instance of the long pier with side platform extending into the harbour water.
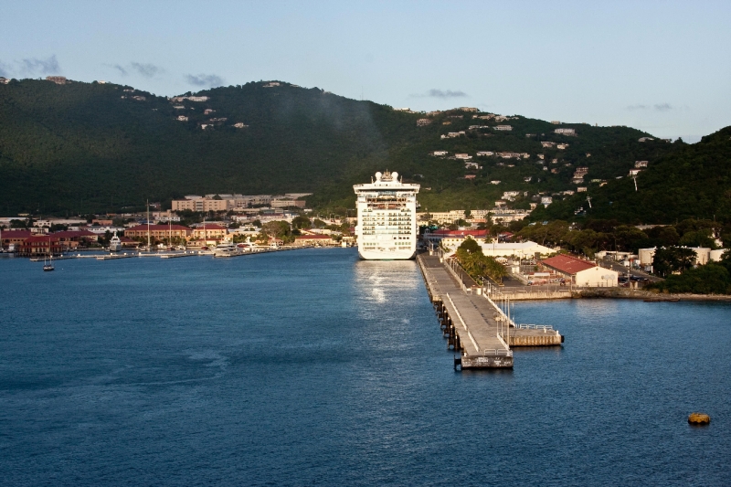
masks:
[[[440,257],[419,254],[419,268],[440,320],[447,348],[461,352],[455,368],[512,368],[510,346],[560,345],[563,336],[551,326],[513,323],[490,296],[466,289]]]

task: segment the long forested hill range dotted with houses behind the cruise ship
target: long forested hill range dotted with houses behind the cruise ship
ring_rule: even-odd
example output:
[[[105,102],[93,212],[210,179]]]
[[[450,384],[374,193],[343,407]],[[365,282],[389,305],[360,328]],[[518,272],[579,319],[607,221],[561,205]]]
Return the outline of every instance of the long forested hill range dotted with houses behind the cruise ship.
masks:
[[[0,84],[0,214],[120,211],[148,198],[210,193],[313,192],[311,206],[352,207],[352,185],[384,169],[419,183],[419,202],[432,211],[490,208],[505,191],[520,192],[511,205],[528,207],[541,193],[576,190],[578,167],[588,168],[589,192],[592,179],[612,181],[604,191],[637,160],[650,161],[649,176],[657,161],[692,154],[683,143],[640,142],[650,134],[628,127],[496,119],[461,109],[409,113],[286,82],[195,95],[207,100],[111,83]],[[448,132],[459,135],[442,138]],[[477,156],[481,151],[527,155]],[[466,167],[455,154],[469,154],[475,164]],[[571,197],[560,199],[548,209],[563,204],[573,215]]]

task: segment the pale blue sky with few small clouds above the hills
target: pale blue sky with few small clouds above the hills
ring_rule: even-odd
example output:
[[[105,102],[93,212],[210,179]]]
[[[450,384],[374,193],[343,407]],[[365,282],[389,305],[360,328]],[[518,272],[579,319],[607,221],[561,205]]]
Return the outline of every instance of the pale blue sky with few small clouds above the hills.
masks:
[[[731,2],[0,0],[0,76],[172,96],[281,80],[412,110],[731,125]]]

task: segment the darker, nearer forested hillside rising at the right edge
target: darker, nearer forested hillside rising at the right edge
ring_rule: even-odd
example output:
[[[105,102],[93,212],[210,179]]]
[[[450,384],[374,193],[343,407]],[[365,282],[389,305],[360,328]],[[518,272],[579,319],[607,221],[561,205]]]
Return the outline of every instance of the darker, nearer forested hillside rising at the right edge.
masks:
[[[673,223],[686,218],[731,221],[731,127],[652,161],[637,175],[608,185],[588,186],[587,194],[540,208],[534,219],[617,219],[628,223]]]

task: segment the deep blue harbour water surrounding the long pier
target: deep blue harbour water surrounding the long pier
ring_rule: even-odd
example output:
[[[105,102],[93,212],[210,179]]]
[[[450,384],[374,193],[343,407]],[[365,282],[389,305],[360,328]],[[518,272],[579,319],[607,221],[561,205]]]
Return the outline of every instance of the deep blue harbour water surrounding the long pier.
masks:
[[[0,259],[6,485],[731,484],[727,304],[518,303],[565,346],[455,373],[413,261],[40,265]]]

